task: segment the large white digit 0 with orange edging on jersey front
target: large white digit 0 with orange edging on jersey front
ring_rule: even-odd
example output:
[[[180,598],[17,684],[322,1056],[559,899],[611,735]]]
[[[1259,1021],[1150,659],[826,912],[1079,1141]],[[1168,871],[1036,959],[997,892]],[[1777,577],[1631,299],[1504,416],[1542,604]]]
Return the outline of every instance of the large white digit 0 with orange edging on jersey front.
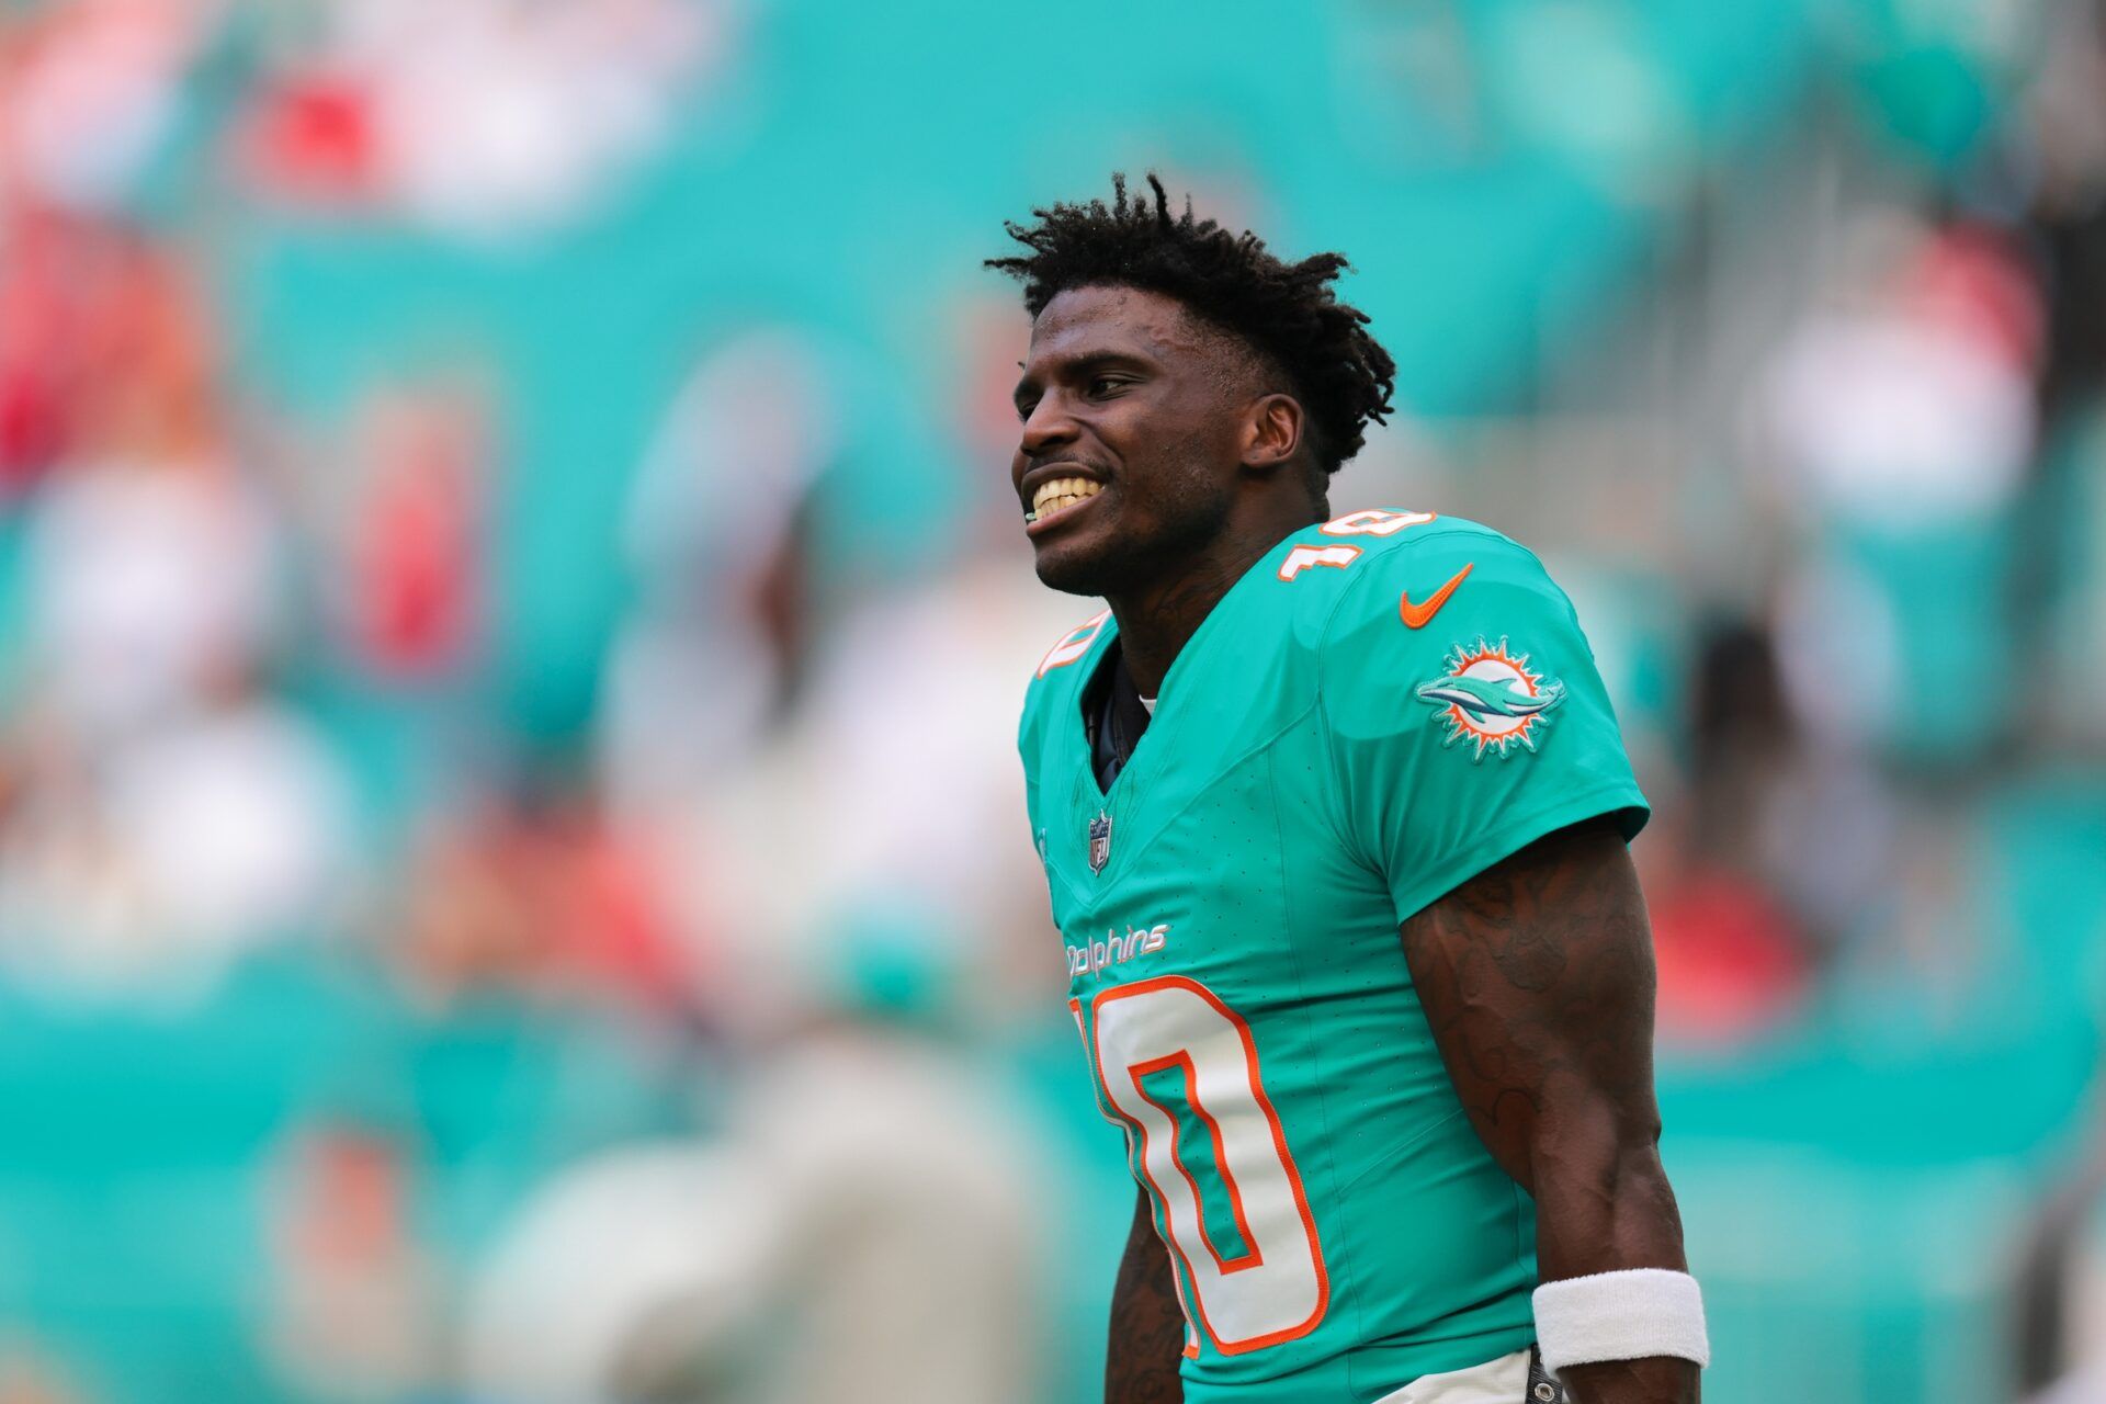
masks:
[[[1198,1353],[1194,1318],[1224,1356],[1316,1330],[1331,1284],[1302,1175],[1259,1080],[1249,1025],[1181,975],[1112,985],[1091,1000],[1087,1023],[1080,1002],[1074,1017],[1106,1116],[1125,1126],[1169,1248],[1184,1267],[1179,1278],[1190,1280],[1198,1299],[1194,1311],[1179,1282],[1186,1356]],[[1207,1143],[1186,1147],[1188,1135],[1205,1135]],[[1200,1158],[1205,1164],[1194,1166]],[[1205,1189],[1200,1172],[1211,1181]]]

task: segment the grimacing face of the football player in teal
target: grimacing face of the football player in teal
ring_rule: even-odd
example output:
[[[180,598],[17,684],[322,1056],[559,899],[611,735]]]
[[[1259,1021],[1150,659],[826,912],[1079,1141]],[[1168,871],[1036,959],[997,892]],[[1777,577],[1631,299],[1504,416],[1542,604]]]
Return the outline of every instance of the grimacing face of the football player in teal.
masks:
[[[1236,497],[1247,362],[1160,293],[1061,293],[1032,322],[1009,465],[1053,589],[1116,596],[1175,577]]]

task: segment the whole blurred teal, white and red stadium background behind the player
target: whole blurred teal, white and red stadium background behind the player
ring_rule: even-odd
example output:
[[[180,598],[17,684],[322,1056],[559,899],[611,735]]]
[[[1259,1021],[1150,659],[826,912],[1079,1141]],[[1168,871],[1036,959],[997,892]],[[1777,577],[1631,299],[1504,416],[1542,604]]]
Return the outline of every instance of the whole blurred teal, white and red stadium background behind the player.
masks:
[[[0,1404],[1095,1398],[979,259],[1114,168],[1580,602],[1706,1398],[2106,1400],[2100,8],[4,0]]]

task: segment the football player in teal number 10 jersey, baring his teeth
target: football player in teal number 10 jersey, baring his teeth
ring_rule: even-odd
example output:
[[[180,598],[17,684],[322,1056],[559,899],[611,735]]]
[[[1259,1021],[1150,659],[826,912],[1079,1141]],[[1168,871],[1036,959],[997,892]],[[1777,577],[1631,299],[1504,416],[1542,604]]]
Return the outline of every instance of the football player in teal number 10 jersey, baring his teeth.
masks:
[[[1019,735],[1139,1185],[1106,1400],[1695,1400],[1647,804],[1580,621],[1487,526],[1333,512],[1394,381],[1346,261],[1150,187],[990,259],[1038,577],[1110,604]]]

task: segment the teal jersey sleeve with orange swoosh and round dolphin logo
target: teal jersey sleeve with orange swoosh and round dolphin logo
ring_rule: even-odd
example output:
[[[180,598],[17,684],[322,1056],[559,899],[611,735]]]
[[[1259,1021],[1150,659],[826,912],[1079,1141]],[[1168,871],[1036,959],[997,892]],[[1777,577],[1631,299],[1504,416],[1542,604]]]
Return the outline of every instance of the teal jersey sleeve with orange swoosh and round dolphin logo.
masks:
[[[1325,629],[1318,693],[1339,819],[1396,918],[1582,819],[1636,836],[1645,796],[1542,562],[1453,530],[1365,564]]]

